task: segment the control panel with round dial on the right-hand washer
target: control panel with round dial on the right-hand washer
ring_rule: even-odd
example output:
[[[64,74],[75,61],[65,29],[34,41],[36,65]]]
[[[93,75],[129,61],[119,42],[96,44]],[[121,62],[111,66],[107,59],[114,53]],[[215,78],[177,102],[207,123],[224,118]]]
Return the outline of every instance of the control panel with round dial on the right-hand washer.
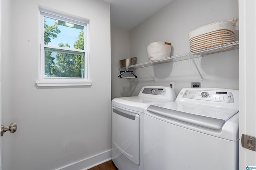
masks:
[[[234,103],[232,93],[224,91],[186,90],[183,98]]]

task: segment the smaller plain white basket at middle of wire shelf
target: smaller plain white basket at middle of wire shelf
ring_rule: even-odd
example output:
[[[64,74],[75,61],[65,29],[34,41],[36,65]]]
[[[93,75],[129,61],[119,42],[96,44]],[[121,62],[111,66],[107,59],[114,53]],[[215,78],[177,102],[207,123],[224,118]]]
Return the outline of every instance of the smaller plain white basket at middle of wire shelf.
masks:
[[[157,41],[148,44],[147,52],[149,61],[163,59],[171,55],[171,43]]]

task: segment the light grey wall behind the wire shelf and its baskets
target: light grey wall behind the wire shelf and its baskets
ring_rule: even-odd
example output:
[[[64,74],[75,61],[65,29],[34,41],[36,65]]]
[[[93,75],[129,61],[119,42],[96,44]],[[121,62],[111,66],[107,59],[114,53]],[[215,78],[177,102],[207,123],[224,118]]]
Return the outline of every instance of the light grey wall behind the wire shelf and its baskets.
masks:
[[[238,18],[238,0],[174,0],[130,31],[130,57],[137,57],[138,63],[148,61],[146,48],[154,41],[172,43],[171,55],[188,53],[190,31],[232,18]],[[237,30],[235,34],[238,40]],[[239,88],[238,50],[207,55],[195,61],[204,78],[202,87]],[[136,69],[138,78],[126,80],[127,84],[136,86],[132,95],[137,95],[142,86],[169,86],[169,82],[174,82],[178,94],[181,88],[190,87],[191,82],[201,81],[191,60],[158,64],[147,69],[155,82],[144,68]]]

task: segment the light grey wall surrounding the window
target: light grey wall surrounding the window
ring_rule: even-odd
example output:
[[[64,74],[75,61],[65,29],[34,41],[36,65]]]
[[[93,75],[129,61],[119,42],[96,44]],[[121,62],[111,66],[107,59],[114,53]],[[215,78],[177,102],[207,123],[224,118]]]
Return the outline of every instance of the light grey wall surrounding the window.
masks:
[[[90,19],[92,86],[36,86],[38,5]],[[2,117],[18,125],[3,137],[3,170],[54,170],[110,150],[110,4],[3,0],[2,10]]]

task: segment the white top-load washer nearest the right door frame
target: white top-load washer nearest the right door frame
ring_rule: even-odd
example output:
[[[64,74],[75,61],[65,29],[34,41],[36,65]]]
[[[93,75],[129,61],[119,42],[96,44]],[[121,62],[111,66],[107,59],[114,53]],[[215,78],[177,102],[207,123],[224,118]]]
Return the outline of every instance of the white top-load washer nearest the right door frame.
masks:
[[[238,90],[183,88],[144,115],[145,170],[238,170]]]

